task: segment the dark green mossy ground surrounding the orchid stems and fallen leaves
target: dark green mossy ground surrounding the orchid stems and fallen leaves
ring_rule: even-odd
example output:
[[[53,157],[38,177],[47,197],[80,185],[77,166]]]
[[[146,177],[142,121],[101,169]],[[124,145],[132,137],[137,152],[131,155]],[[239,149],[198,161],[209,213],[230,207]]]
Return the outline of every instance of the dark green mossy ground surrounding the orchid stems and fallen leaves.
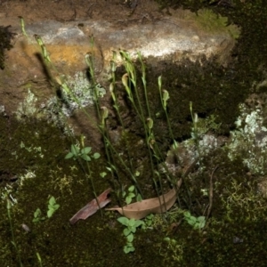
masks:
[[[166,1],[168,2],[168,1]],[[169,1],[170,2],[170,1]],[[151,114],[154,119],[155,135],[163,154],[168,150],[171,139],[166,119],[161,111],[158,96],[158,75],[170,93],[168,113],[175,133],[175,139],[182,141],[190,136],[191,117],[189,102],[200,117],[215,115],[221,128],[216,134],[229,134],[238,115],[239,103],[245,101],[251,88],[264,78],[267,60],[266,14],[267,3],[263,1],[232,1],[232,6],[210,5],[210,1],[174,1],[197,11],[199,7],[212,8],[227,15],[231,22],[241,28],[239,42],[232,52],[229,66],[222,67],[216,59],[198,62],[183,61],[158,63],[148,68],[148,92]],[[201,61],[201,64],[199,63]],[[121,73],[123,70],[121,69]],[[119,71],[117,77],[120,77]],[[142,89],[142,85],[139,85]],[[142,91],[141,91],[142,92]],[[139,181],[146,197],[153,195],[147,150],[143,144],[142,125],[123,91],[120,92],[125,105],[123,115],[129,132],[126,134],[134,157],[134,168],[142,170]],[[156,97],[155,97],[156,96]],[[159,113],[158,113],[159,112]],[[157,114],[157,116],[156,116]],[[214,150],[208,157],[201,158],[201,166],[195,167],[184,180],[179,193],[182,209],[201,215],[210,203],[201,189],[209,190],[213,175],[213,208],[204,231],[193,231],[176,212],[177,206],[166,214],[166,221],[155,216],[153,230],[138,230],[135,234],[135,252],[123,253],[125,238],[123,227],[117,223],[117,214],[98,212],[85,221],[69,224],[69,218],[93,199],[90,181],[86,179],[77,161],[65,160],[70,141],[62,137],[58,128],[44,121],[26,119],[22,124],[12,117],[0,117],[1,142],[1,192],[12,184],[12,197],[18,204],[12,206],[12,225],[24,266],[39,266],[36,252],[41,255],[44,266],[265,266],[267,260],[266,200],[256,190],[258,177],[249,174],[241,159],[230,161],[227,151]],[[117,118],[109,120],[110,128],[117,127]],[[21,142],[24,147],[21,147]],[[86,145],[91,145],[90,138]],[[117,149],[123,152],[125,139],[117,142]],[[41,151],[35,148],[41,147]],[[27,149],[26,149],[27,148]],[[102,152],[102,150],[100,151]],[[93,182],[97,193],[109,186],[117,186],[105,171],[106,158],[91,164]],[[14,175],[36,174],[22,186],[16,185]],[[121,170],[123,184],[129,184]],[[165,185],[167,188],[167,185]],[[51,219],[32,223],[33,214],[39,207],[46,213],[48,197],[54,196],[61,206]],[[112,195],[115,198],[115,194]],[[114,200],[115,202],[115,200]],[[114,203],[113,202],[113,203]],[[1,202],[0,263],[3,266],[17,266],[17,252],[12,246],[12,235],[8,221],[6,203]],[[180,223],[179,223],[180,222]],[[26,232],[21,224],[31,229]],[[168,236],[176,240],[170,245],[163,239]],[[8,240],[8,241],[7,241]]]

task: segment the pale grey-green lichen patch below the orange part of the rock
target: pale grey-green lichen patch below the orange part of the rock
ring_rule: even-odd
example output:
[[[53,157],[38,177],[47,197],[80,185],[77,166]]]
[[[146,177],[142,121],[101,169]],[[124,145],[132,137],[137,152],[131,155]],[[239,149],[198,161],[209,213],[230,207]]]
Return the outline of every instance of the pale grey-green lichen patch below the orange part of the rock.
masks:
[[[95,98],[103,97],[106,90],[99,84],[93,86],[83,72],[77,72],[74,77],[67,76],[64,79],[71,93],[61,89],[60,97],[53,96],[40,107],[37,107],[35,94],[28,89],[27,97],[20,102],[17,111],[14,112],[17,119],[45,118],[69,133],[65,117],[71,116],[75,109],[93,105]]]

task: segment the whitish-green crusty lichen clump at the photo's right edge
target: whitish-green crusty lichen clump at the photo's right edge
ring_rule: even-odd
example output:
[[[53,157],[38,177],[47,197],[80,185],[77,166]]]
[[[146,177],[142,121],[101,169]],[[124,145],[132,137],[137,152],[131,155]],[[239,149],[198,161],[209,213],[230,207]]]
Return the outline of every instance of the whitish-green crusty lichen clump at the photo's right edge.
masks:
[[[237,129],[231,132],[231,142],[227,149],[233,160],[242,158],[252,174],[267,173],[267,128],[263,125],[263,110],[249,110],[244,104],[239,106],[240,116]]]

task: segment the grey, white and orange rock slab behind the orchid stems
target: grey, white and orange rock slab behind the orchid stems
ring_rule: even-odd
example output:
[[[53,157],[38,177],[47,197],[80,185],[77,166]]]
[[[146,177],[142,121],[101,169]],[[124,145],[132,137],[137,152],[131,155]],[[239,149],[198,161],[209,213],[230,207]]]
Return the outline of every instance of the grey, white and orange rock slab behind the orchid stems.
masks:
[[[205,18],[205,12],[202,17]],[[213,20],[221,21],[222,18]],[[4,91],[1,90],[1,104],[7,109],[15,108],[10,103],[11,95],[16,102],[28,91],[28,87],[44,89],[47,86],[47,73],[40,47],[33,37],[35,34],[42,37],[54,66],[62,74],[74,74],[86,69],[85,53],[93,52],[95,70],[100,79],[106,77],[109,71],[112,51],[119,49],[128,51],[133,57],[136,52],[140,52],[144,57],[156,58],[158,61],[179,61],[184,57],[195,61],[199,55],[205,54],[208,58],[216,54],[222,64],[227,64],[226,59],[234,44],[232,28],[222,25],[214,28],[213,25],[218,23],[212,20],[199,23],[195,14],[182,11],[179,17],[169,16],[156,20],[143,15],[140,20],[134,21],[51,20],[32,24],[26,21],[28,39],[21,34],[19,24],[18,19],[12,25],[12,32],[17,34],[14,47],[7,53],[6,67],[0,72],[0,87],[4,88]]]

